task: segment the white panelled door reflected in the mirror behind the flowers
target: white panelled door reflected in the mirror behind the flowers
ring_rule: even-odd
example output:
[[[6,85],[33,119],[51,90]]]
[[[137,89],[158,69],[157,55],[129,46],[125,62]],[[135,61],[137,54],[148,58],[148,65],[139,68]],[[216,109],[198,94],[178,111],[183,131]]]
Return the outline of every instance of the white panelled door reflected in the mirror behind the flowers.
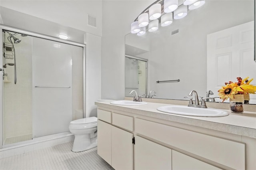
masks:
[[[254,22],[208,34],[207,90],[212,90],[217,97],[225,82],[237,82],[236,77],[244,79],[248,76],[254,79],[250,84],[256,85]],[[256,95],[250,97],[250,103],[256,104]]]

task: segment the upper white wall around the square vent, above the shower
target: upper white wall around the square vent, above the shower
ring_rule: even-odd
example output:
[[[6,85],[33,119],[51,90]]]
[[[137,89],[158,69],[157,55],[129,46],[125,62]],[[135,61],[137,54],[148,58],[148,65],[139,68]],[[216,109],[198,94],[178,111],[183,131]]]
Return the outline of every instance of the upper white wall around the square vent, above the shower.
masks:
[[[0,6],[98,36],[102,35],[101,0],[0,0]],[[87,25],[87,14],[96,17],[96,28]]]

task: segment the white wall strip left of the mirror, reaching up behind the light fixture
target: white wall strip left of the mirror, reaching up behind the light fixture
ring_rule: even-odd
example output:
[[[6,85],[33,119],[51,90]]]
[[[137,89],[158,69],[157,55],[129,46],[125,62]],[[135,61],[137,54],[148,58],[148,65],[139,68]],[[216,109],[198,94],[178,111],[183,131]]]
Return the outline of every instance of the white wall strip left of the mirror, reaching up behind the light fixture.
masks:
[[[124,99],[124,36],[130,24],[154,0],[102,2],[102,99]]]

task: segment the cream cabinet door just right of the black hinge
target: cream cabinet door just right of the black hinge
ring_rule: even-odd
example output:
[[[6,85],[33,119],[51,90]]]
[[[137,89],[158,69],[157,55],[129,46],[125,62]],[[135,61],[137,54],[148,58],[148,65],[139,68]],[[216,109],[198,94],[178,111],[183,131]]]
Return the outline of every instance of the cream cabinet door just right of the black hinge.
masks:
[[[172,150],[135,136],[134,170],[171,170]]]

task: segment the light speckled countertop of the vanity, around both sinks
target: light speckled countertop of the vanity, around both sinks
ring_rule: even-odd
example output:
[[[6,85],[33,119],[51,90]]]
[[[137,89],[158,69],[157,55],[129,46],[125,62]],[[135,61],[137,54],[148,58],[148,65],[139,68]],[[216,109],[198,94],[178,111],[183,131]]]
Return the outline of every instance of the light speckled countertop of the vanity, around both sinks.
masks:
[[[157,119],[164,119],[177,123],[184,123],[187,125],[208,128],[212,130],[218,130],[231,134],[237,134],[256,138],[256,112],[245,111],[242,114],[231,113],[224,117],[195,117],[175,115],[170,113],[164,113],[158,111],[157,108],[161,106],[167,106],[170,104],[163,103],[150,103],[147,105],[139,106],[124,106],[124,105],[112,105],[110,101],[97,101],[95,104],[98,107],[106,107],[110,109],[116,109],[120,111],[130,112],[138,115],[144,115]],[[224,109],[222,109],[224,110]]]

